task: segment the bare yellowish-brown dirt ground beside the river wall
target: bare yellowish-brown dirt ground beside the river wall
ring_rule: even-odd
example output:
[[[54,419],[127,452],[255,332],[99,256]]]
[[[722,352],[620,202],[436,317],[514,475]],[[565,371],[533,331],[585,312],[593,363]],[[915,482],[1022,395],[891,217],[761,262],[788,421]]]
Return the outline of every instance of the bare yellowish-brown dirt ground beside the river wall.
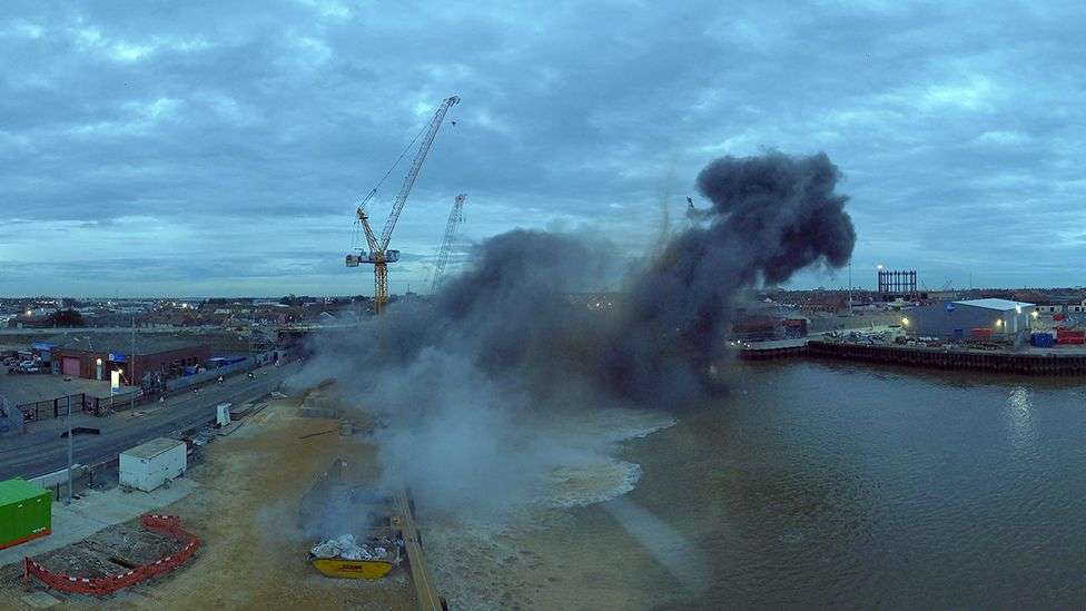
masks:
[[[376,463],[363,435],[340,436],[337,421],[297,413],[297,401],[273,402],[203,449],[187,475],[201,487],[162,510],[203,540],[194,560],[105,600],[50,593],[75,609],[413,609],[404,568],[367,582],[327,579],[306,562],[314,541],[299,526],[303,497],[336,459],[349,461],[359,483],[373,481]],[[4,604],[23,594],[0,580]]]

